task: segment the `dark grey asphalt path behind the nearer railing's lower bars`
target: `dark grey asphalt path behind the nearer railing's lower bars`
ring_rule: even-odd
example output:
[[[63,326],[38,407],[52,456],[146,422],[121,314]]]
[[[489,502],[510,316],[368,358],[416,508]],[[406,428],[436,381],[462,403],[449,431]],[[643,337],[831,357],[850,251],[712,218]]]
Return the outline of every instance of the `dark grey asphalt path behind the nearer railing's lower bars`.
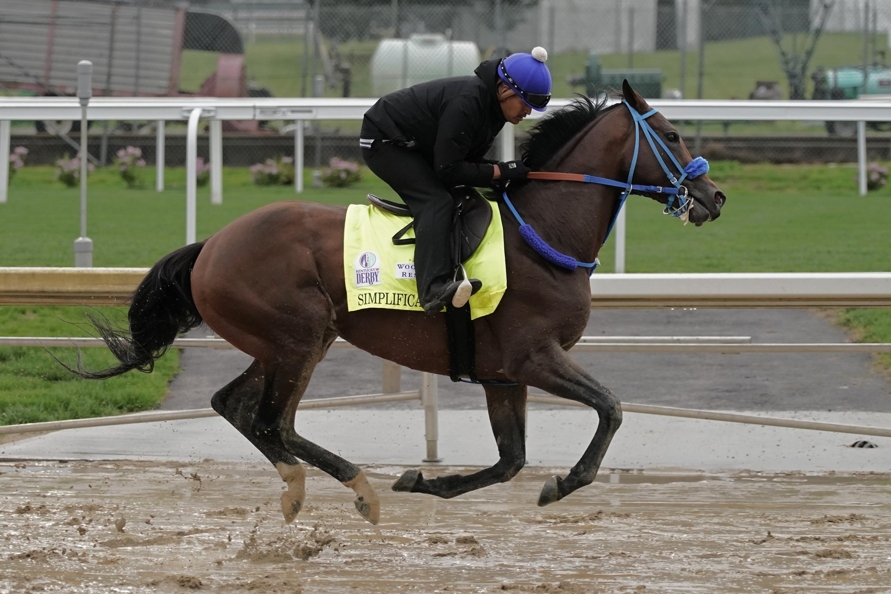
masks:
[[[205,336],[198,330],[193,336]],[[751,336],[754,342],[846,342],[844,330],[807,310],[593,310],[589,336]],[[576,361],[622,400],[711,410],[891,412],[891,386],[869,354],[605,354]],[[162,409],[209,406],[250,359],[233,350],[184,349],[184,371]],[[380,359],[358,349],[333,349],[316,368],[306,398],[380,392]],[[419,374],[404,370],[403,387]],[[485,409],[481,387],[439,378],[443,410]],[[534,405],[543,408],[543,405]],[[368,408],[368,407],[365,407]],[[373,408],[412,410],[418,403]],[[560,407],[544,407],[560,408]]]

